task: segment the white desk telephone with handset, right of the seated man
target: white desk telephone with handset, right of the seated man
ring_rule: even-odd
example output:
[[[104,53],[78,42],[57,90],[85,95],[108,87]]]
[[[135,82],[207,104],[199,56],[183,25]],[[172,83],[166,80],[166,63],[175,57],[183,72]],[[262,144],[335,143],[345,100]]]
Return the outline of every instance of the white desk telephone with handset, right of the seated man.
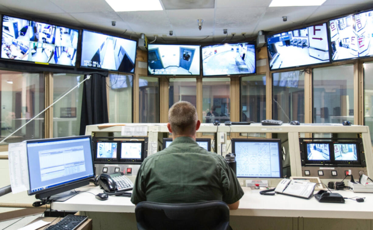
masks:
[[[261,195],[275,195],[280,193],[283,195],[296,196],[300,198],[309,199],[313,195],[316,183],[304,180],[282,179],[275,189],[260,191]],[[266,193],[272,192],[275,193]]]

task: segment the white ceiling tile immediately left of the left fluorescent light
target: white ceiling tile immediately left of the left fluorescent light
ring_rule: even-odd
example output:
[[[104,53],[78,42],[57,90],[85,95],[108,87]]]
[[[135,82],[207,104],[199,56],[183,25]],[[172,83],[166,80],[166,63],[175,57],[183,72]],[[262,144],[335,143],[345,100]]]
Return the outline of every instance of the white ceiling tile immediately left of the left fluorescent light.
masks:
[[[68,13],[114,11],[105,0],[50,0]]]

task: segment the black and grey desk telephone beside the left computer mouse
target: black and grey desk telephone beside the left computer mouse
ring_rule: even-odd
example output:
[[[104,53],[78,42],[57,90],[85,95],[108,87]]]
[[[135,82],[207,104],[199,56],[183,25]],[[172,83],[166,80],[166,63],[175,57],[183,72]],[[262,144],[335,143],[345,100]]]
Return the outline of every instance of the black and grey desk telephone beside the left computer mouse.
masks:
[[[123,192],[134,188],[134,184],[122,172],[111,174],[102,173],[98,176],[98,185],[108,193]]]

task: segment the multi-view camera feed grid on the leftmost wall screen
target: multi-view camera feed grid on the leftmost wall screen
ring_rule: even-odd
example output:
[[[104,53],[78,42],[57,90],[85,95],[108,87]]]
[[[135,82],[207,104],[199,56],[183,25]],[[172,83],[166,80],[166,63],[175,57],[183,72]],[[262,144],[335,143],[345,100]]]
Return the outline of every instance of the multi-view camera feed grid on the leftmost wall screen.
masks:
[[[3,15],[1,58],[75,66],[79,31]]]

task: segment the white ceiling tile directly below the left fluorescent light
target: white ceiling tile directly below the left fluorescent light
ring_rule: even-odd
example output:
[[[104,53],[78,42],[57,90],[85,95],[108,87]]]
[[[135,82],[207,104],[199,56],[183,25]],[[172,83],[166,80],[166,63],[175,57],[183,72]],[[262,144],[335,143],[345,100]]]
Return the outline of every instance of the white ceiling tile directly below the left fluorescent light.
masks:
[[[169,34],[172,30],[167,14],[162,11],[117,12],[129,27],[139,33]]]

